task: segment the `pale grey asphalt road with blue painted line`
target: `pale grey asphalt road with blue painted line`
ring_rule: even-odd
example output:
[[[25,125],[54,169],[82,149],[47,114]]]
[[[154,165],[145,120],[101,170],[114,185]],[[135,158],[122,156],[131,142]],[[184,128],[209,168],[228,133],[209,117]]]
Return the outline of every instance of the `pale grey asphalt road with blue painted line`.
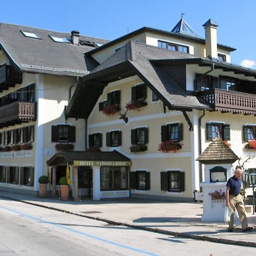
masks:
[[[86,208],[86,205],[85,205]],[[254,255],[223,245],[110,226],[63,212],[0,199],[0,255]]]

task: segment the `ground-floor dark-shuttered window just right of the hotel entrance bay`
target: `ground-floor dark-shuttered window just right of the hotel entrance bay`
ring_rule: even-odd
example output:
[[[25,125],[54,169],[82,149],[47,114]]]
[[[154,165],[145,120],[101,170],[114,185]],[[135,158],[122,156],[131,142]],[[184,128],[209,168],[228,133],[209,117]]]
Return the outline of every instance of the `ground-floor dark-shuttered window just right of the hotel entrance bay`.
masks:
[[[138,190],[150,189],[150,172],[130,172],[130,188]]]

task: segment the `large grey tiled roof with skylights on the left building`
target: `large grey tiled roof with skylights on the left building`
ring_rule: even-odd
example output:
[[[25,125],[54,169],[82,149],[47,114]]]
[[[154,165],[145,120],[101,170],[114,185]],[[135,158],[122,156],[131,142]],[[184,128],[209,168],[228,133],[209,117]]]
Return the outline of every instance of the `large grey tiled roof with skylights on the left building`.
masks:
[[[22,31],[34,32],[41,39],[28,38]],[[96,46],[109,42],[104,39],[80,36],[80,40],[92,42],[90,46],[76,46],[72,43],[53,42],[49,35],[70,38],[70,33],[55,32],[19,26],[8,23],[0,24],[0,47],[22,71],[49,73],[52,75],[84,76],[97,67],[96,61],[84,56]]]

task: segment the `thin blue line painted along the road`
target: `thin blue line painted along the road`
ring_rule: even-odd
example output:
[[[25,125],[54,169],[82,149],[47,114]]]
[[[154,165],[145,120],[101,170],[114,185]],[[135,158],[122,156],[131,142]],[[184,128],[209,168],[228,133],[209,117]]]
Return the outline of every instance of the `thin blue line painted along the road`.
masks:
[[[148,251],[143,251],[143,250],[135,249],[135,248],[130,247],[130,246],[122,245],[121,243],[116,243],[116,242],[106,240],[104,238],[92,236],[88,233],[84,233],[84,232],[77,231],[75,229],[67,228],[66,226],[63,226],[63,225],[60,225],[60,224],[52,223],[52,222],[49,222],[49,221],[44,221],[44,220],[42,220],[42,218],[37,218],[37,217],[34,217],[32,215],[29,215],[29,214],[26,214],[26,213],[23,213],[23,212],[19,212],[18,210],[13,210],[13,209],[10,209],[10,208],[7,208],[7,207],[2,207],[2,206],[0,206],[0,208],[9,210],[10,212],[18,213],[18,214],[20,214],[22,216],[25,216],[27,218],[32,218],[34,220],[41,221],[41,222],[44,222],[46,224],[50,224],[50,225],[57,226],[57,227],[62,228],[62,229],[69,230],[69,231],[77,233],[77,234],[81,234],[82,236],[85,236],[85,237],[93,238],[93,239],[101,241],[101,242],[110,243],[111,245],[116,245],[116,246],[119,246],[119,247],[122,247],[122,248],[125,248],[125,249],[129,249],[129,250],[132,250],[132,251],[137,251],[138,253],[143,253],[143,254],[152,255],[152,256],[160,256],[158,254],[149,253]]]

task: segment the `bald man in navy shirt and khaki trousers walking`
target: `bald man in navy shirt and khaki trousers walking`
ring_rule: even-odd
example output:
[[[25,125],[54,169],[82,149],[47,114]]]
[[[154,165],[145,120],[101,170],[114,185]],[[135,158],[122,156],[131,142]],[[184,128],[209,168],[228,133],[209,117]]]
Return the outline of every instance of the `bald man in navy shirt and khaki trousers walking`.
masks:
[[[245,207],[243,205],[243,197],[240,195],[241,189],[241,177],[242,170],[240,167],[236,167],[234,176],[230,177],[226,183],[226,206],[230,206],[232,210],[237,209],[241,225],[242,232],[253,229],[252,226],[248,226]],[[233,232],[234,229],[234,213],[230,216],[228,232]]]

